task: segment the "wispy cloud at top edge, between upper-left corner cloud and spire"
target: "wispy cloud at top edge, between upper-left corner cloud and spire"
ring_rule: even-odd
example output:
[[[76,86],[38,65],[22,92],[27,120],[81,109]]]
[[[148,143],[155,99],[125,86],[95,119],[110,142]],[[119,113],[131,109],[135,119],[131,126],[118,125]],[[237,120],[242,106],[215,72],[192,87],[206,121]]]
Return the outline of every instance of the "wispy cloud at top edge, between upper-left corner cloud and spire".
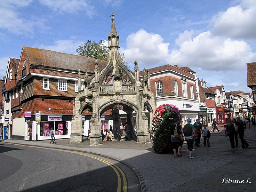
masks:
[[[53,9],[55,12],[77,13],[85,11],[88,16],[94,14],[94,7],[85,0],[40,0],[40,3]]]

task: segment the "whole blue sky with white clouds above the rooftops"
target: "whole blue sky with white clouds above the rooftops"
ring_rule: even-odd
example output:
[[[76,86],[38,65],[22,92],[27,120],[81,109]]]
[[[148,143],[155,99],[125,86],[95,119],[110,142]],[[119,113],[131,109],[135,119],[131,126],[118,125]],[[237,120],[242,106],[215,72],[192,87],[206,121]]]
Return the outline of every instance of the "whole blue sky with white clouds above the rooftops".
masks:
[[[1,0],[0,78],[22,46],[76,54],[107,40],[114,12],[119,52],[140,70],[178,64],[207,86],[251,92],[246,63],[256,61],[254,0]]]

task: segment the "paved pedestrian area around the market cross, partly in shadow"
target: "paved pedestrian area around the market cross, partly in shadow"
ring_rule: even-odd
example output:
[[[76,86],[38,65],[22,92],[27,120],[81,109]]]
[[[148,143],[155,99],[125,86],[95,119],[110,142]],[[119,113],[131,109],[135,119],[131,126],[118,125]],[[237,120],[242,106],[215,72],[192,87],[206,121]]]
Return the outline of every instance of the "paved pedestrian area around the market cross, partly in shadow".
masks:
[[[1,140],[3,143],[33,145],[81,151],[115,159],[129,166],[140,181],[141,191],[148,192],[193,192],[193,191],[256,191],[256,125],[247,125],[244,139],[248,148],[238,145],[231,148],[229,137],[225,136],[223,125],[220,132],[212,132],[211,146],[193,149],[194,159],[189,158],[187,144],[181,149],[182,157],[174,158],[173,154],[157,154],[152,143],[132,141],[103,142],[102,145],[90,146],[90,140],[84,137],[83,143],[70,143],[70,139],[56,140]],[[211,130],[211,127],[208,127]],[[129,184],[128,184],[129,185]]]

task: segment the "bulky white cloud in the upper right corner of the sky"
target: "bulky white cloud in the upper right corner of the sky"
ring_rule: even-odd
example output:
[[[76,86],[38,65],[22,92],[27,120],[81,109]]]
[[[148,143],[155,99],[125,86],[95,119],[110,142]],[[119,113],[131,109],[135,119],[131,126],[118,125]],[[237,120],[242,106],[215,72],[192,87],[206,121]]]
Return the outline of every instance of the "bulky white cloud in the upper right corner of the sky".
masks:
[[[243,9],[243,6],[246,7]],[[219,12],[212,18],[212,33],[218,36],[250,39],[256,38],[256,4],[244,1],[241,5]]]

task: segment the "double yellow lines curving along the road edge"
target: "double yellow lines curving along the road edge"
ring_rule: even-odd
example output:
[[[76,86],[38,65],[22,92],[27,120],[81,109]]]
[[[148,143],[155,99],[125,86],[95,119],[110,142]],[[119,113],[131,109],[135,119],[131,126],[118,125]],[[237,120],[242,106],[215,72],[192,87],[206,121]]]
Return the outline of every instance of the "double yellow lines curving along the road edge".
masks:
[[[51,150],[55,150],[55,151],[62,151],[62,152],[68,152],[68,153],[74,153],[74,154],[78,154],[78,155],[82,155],[82,156],[87,156],[87,157],[91,157],[93,159],[96,159],[98,161],[101,161],[102,163],[105,163],[107,165],[109,165],[115,172],[117,175],[117,179],[118,179],[118,185],[117,185],[117,190],[116,192],[127,192],[127,180],[125,177],[125,174],[123,172],[122,169],[120,169],[120,167],[118,167],[116,164],[111,163],[107,160],[104,159],[100,159],[99,157],[95,157],[95,156],[91,156],[91,155],[86,155],[84,153],[80,153],[80,152],[76,152],[76,151],[69,151],[69,150],[64,150],[64,149],[56,149],[56,148],[45,148],[45,147],[37,147],[37,146],[28,146],[28,145],[22,145],[22,144],[14,144],[14,145],[21,145],[21,146],[26,146],[26,147],[33,147],[33,148],[43,148],[43,149],[51,149]],[[120,175],[121,173],[121,175]],[[123,182],[122,182],[123,181]],[[123,188],[122,188],[122,183],[123,183]]]

